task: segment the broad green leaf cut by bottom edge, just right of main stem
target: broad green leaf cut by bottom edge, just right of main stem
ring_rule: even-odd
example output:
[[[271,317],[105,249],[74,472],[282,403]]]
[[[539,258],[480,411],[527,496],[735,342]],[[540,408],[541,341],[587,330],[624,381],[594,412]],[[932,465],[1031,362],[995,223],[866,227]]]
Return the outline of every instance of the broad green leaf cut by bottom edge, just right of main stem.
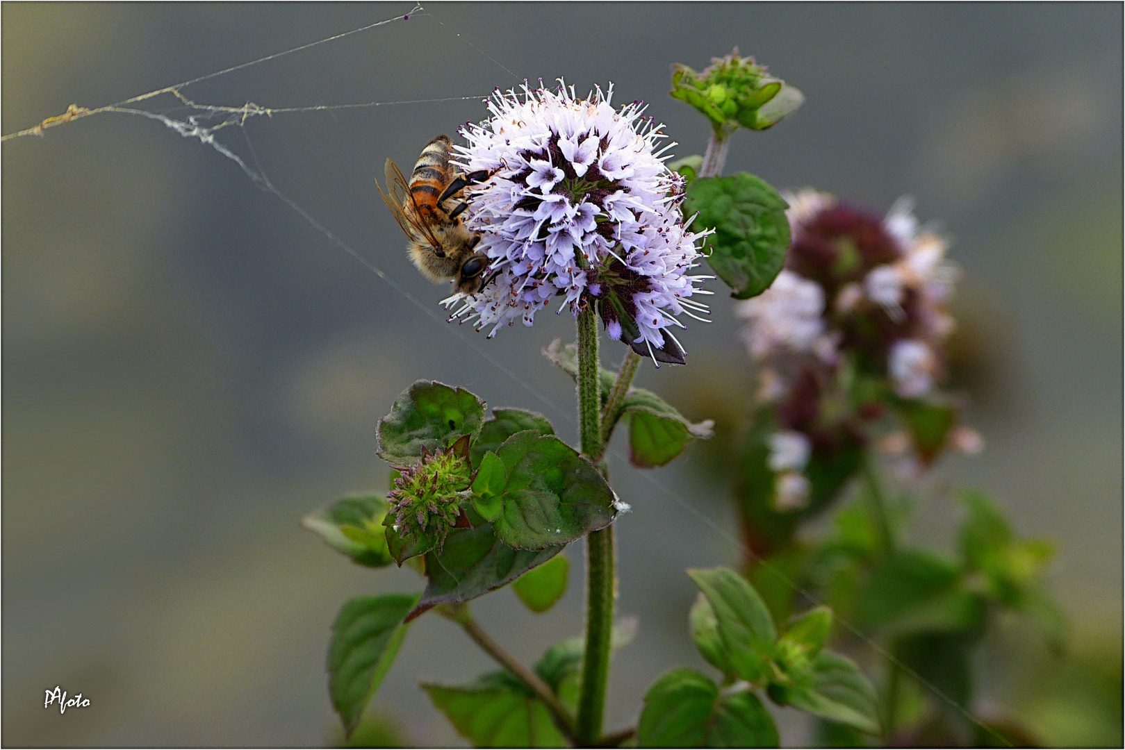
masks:
[[[641,748],[776,748],[777,728],[756,695],[720,695],[694,669],[673,669],[645,694],[637,724]]]

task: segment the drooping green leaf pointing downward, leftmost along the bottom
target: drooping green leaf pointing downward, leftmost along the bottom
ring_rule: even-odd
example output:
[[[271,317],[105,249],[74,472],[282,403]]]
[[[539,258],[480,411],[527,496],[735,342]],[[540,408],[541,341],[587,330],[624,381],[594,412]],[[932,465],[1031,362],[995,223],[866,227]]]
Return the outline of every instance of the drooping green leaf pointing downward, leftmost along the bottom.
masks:
[[[411,594],[361,596],[336,615],[328,644],[328,694],[348,732],[390,669],[406,635],[403,621],[417,602]]]

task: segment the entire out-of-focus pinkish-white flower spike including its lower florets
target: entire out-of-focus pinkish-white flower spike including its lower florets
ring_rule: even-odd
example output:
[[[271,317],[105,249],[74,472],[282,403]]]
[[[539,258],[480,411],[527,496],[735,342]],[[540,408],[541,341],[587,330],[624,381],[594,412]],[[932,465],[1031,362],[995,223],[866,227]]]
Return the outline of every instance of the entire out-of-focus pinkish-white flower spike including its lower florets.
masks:
[[[795,509],[808,500],[801,472],[813,451],[863,443],[866,425],[884,414],[871,392],[865,404],[848,403],[855,395],[845,391],[856,378],[882,383],[900,404],[937,397],[957,269],[945,259],[946,240],[919,226],[909,199],[885,217],[813,190],[786,200],[792,245],[785,269],[736,313],[758,364],[757,398],[777,419],[770,439],[775,504]],[[900,433],[884,443],[910,445]],[[947,444],[975,451],[981,441],[957,426]]]

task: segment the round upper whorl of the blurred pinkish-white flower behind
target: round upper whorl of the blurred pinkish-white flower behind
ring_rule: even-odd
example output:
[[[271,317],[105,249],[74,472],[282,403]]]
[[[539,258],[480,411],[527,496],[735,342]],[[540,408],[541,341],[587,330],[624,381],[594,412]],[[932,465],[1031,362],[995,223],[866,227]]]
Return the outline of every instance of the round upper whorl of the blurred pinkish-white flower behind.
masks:
[[[909,198],[884,218],[814,190],[785,198],[793,234],[785,270],[736,308],[750,354],[776,373],[794,359],[798,370],[831,370],[850,352],[903,398],[930,394],[954,325],[946,302],[957,270],[945,259],[946,240],[919,226]]]

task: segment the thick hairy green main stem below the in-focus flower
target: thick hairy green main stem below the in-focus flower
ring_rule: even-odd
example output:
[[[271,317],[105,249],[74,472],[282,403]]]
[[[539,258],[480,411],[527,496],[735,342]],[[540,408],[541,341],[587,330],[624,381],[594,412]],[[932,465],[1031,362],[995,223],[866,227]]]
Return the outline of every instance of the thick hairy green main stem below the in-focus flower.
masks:
[[[601,403],[597,317],[591,307],[578,315],[578,425],[582,453],[595,463],[602,454]],[[586,535],[586,652],[576,728],[578,744],[583,747],[594,747],[602,738],[613,634],[613,526],[610,525]]]

